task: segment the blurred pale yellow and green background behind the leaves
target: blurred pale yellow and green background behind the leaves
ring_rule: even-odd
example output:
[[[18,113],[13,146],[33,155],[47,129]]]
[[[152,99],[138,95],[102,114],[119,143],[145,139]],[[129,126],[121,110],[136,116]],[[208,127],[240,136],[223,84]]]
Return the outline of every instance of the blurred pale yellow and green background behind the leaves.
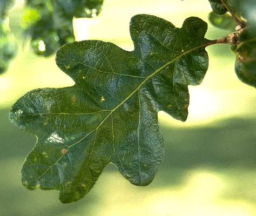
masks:
[[[9,123],[9,109],[24,93],[38,87],[73,85],[54,56],[37,57],[24,46],[20,18],[23,1],[9,12],[10,28],[19,51],[0,76],[0,215],[256,215],[256,94],[234,73],[235,56],[228,45],[207,48],[210,65],[203,83],[190,86],[186,123],[159,112],[165,157],[153,182],[131,185],[108,165],[82,200],[61,204],[58,191],[29,191],[20,171],[36,138]],[[151,14],[181,26],[197,16],[207,21],[211,11],[201,0],[105,0],[93,19],[74,19],[76,40],[100,39],[132,50],[130,18]],[[208,25],[207,38],[228,32]]]

